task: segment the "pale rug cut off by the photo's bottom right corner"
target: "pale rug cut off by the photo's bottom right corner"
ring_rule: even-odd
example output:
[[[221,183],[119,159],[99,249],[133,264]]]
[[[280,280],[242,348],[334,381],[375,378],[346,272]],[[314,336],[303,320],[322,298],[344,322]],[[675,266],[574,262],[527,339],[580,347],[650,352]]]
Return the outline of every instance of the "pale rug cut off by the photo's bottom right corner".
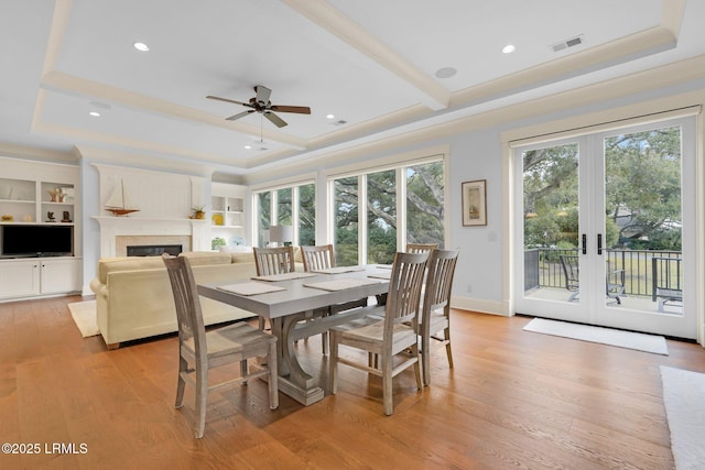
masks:
[[[663,404],[677,470],[705,464],[705,374],[661,365]]]

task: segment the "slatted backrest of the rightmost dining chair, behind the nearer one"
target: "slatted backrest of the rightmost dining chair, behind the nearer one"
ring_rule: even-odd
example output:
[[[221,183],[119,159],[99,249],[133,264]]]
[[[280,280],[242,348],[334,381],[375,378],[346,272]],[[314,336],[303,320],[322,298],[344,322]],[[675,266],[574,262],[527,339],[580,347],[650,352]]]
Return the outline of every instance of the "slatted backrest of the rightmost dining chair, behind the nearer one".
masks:
[[[453,276],[459,253],[459,250],[433,250],[429,256],[426,287],[423,294],[424,326],[429,325],[429,317],[433,310],[444,308],[445,314],[448,313]]]

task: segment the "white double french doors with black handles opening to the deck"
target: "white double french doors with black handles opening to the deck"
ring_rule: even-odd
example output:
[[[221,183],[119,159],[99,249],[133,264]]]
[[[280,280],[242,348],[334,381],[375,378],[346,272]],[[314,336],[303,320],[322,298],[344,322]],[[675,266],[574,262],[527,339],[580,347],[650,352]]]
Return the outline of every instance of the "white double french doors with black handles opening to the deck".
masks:
[[[518,313],[696,337],[694,129],[683,118],[514,149]]]

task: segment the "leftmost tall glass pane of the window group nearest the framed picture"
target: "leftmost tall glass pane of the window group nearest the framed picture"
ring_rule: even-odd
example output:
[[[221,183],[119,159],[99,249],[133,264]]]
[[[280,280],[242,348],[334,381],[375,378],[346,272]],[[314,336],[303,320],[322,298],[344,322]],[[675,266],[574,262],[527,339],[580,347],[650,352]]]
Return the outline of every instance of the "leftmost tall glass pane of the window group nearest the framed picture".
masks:
[[[334,184],[335,262],[339,266],[358,264],[358,178],[336,179]]]

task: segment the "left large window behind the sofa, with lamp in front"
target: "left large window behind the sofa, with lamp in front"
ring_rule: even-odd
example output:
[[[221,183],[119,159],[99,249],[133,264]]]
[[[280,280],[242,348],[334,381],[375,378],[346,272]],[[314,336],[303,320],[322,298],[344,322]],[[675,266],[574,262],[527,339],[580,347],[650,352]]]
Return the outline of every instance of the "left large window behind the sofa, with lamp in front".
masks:
[[[313,183],[254,194],[258,247],[267,247],[270,226],[292,226],[294,245],[314,244],[316,188]]]

